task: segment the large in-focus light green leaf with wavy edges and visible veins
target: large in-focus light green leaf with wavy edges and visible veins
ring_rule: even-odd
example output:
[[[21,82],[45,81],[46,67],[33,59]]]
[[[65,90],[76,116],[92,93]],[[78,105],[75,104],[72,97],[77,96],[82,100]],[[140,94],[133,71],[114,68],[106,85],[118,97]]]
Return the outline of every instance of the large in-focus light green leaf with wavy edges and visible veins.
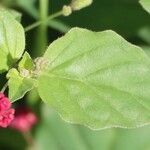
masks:
[[[150,122],[150,60],[113,31],[74,28],[53,42],[39,76],[42,100],[72,123],[92,129]]]

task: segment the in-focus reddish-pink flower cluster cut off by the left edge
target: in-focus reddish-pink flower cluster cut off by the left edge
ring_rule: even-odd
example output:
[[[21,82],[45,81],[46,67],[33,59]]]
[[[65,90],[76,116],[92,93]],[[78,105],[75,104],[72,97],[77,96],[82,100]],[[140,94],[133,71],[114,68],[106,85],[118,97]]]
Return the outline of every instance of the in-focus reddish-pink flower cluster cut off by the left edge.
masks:
[[[6,128],[14,119],[15,110],[11,108],[11,102],[0,93],[0,127]]]

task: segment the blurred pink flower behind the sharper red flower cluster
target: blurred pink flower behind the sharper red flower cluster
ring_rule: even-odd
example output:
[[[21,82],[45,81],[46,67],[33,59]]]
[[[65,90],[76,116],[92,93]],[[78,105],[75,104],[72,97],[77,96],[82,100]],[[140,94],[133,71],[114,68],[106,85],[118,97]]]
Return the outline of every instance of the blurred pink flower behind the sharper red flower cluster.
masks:
[[[20,132],[27,132],[31,130],[36,123],[37,117],[30,109],[19,108],[16,110],[15,118],[10,124],[10,127]]]

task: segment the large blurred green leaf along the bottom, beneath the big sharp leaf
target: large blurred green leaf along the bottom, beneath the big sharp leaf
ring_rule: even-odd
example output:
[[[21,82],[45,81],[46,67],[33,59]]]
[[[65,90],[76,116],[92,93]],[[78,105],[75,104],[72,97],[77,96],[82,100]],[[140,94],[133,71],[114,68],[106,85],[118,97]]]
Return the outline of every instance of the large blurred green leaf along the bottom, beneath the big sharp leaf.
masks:
[[[42,107],[42,121],[34,140],[38,150],[149,150],[150,127],[92,131],[63,122],[48,107]]]

